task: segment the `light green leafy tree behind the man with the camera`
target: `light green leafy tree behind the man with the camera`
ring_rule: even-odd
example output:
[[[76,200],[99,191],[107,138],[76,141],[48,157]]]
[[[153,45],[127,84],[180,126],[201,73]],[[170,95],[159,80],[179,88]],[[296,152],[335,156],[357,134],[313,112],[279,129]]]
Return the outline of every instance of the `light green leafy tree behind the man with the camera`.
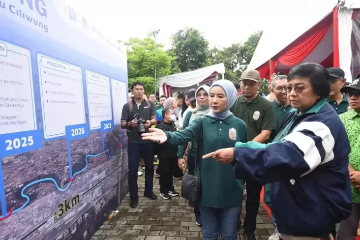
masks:
[[[154,92],[154,66],[156,64],[156,76],[162,77],[171,74],[174,57],[163,50],[164,45],[156,44],[154,51],[154,40],[151,33],[144,39],[130,38],[125,42],[127,46],[127,72],[129,88],[131,83],[142,82],[145,92]]]

